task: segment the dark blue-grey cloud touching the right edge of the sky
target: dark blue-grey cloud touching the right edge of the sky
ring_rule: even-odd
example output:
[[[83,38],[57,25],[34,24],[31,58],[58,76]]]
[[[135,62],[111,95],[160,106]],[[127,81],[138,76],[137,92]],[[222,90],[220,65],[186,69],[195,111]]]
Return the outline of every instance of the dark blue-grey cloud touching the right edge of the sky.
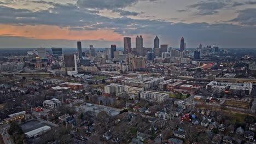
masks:
[[[242,25],[249,26],[256,25],[256,9],[245,9],[237,12],[238,16],[235,19],[230,20],[231,22],[238,22]]]

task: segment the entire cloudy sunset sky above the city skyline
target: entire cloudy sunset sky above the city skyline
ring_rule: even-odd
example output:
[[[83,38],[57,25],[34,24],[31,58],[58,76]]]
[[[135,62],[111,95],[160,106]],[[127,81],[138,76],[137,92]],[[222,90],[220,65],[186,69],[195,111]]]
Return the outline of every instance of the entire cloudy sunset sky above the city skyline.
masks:
[[[0,0],[0,48],[256,48],[256,0]]]

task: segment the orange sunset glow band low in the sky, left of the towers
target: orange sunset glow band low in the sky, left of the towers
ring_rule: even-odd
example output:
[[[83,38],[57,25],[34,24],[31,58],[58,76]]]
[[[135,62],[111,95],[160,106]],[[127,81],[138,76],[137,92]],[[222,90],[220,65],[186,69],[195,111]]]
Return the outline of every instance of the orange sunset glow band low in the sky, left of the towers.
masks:
[[[113,31],[100,29],[97,31],[71,31],[67,27],[57,26],[13,26],[0,25],[0,35],[10,35],[16,37],[34,38],[34,39],[68,39],[68,40],[120,40],[120,35]]]

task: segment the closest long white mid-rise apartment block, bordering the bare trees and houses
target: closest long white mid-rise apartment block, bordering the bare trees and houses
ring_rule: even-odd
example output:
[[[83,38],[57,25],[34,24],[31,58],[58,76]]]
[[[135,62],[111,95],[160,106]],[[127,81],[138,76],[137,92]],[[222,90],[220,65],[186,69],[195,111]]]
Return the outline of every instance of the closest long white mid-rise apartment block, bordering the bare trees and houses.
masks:
[[[164,102],[168,99],[169,94],[167,93],[158,93],[158,92],[151,92],[145,91],[141,93],[141,99],[146,99],[148,101],[156,101],[156,102]]]

